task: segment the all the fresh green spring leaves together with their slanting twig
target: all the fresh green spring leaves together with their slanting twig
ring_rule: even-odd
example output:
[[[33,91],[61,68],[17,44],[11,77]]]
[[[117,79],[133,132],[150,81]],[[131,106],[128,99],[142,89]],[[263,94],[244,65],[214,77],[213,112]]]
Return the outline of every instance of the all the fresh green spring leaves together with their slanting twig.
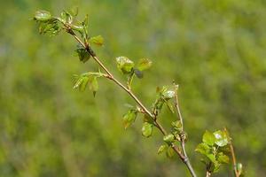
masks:
[[[93,95],[95,96],[98,91],[98,78],[106,78],[116,83],[137,102],[136,107],[130,106],[129,111],[123,115],[122,123],[124,128],[127,129],[131,126],[136,121],[137,115],[142,114],[142,135],[145,137],[151,137],[153,135],[154,127],[158,128],[163,135],[163,144],[160,145],[158,154],[165,152],[168,158],[172,158],[176,153],[184,164],[187,165],[192,176],[196,176],[184,148],[184,144],[187,141],[187,134],[184,131],[183,118],[178,105],[178,85],[173,83],[169,86],[157,88],[157,95],[151,106],[152,109],[151,111],[148,110],[132,92],[131,84],[134,76],[137,76],[139,79],[143,78],[143,72],[149,69],[153,62],[148,58],[140,58],[137,61],[137,64],[135,64],[134,61],[127,57],[115,58],[118,70],[127,77],[127,85],[124,86],[120,81],[117,81],[113,77],[113,74],[106,69],[106,66],[101,63],[91,49],[91,44],[102,46],[104,44],[103,37],[101,35],[91,37],[88,33],[88,16],[80,21],[76,18],[77,14],[78,9],[77,7],[74,7],[69,11],[61,12],[59,17],[54,17],[51,15],[51,12],[47,11],[37,11],[35,12],[34,17],[39,25],[39,33],[41,35],[59,35],[61,31],[66,31],[66,33],[73,35],[78,42],[75,52],[77,53],[79,60],[85,63],[90,58],[93,58],[98,63],[98,72],[74,75],[76,79],[74,89],[80,89],[83,91],[89,85],[89,89],[92,90]],[[75,35],[75,33],[79,34],[80,37]],[[101,70],[104,70],[104,72],[102,73]],[[158,117],[164,105],[168,107],[168,110],[172,112],[173,115],[175,113],[178,115],[177,119],[172,121],[171,130],[169,132],[167,132],[158,121]],[[205,158],[202,159],[202,162],[206,165],[208,175],[218,172],[222,164],[229,164],[230,156],[235,158],[234,154],[231,152],[230,145],[231,138],[227,134],[227,131],[218,130],[214,133],[209,131],[205,132],[202,137],[202,142],[197,146],[196,151],[204,155]],[[236,176],[243,174],[241,164],[236,165],[234,170]]]

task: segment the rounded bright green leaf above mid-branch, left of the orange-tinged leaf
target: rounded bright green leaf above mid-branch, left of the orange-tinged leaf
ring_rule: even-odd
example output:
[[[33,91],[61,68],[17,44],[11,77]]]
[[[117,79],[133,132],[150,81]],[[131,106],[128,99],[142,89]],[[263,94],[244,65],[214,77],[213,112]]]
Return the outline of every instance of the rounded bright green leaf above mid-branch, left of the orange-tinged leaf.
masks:
[[[131,61],[129,58],[126,57],[115,58],[115,60],[117,67],[121,71],[121,73],[131,73],[134,67],[133,61]]]

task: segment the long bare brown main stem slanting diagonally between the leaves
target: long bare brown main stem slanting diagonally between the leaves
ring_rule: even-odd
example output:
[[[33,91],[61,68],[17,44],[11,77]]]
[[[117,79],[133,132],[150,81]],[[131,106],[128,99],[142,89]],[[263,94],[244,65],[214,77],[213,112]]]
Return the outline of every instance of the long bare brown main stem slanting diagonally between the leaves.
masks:
[[[106,68],[105,65],[102,64],[102,62],[100,61],[100,59],[96,56],[96,54],[93,52],[93,50],[91,50],[90,46],[89,45],[85,45],[82,40],[74,34],[74,31],[71,30],[71,29],[68,29],[68,31],[66,30],[67,33],[69,33],[70,35],[73,35],[74,36],[74,39],[79,42],[82,47],[84,49],[87,50],[88,53],[90,53],[91,57],[94,58],[94,60],[98,63],[98,65],[100,65],[100,67],[108,74],[108,76],[106,78],[108,78],[109,80],[115,82],[119,87],[121,87],[121,89],[125,90],[129,96],[131,96],[136,102],[137,104],[140,106],[140,108],[147,114],[149,115],[149,117],[151,119],[153,119],[153,122],[155,124],[156,127],[158,127],[158,129],[160,130],[161,134],[162,135],[167,135],[167,131],[164,129],[164,127],[162,127],[160,125],[160,123],[158,122],[158,120],[156,119],[156,116],[153,115],[152,112],[150,112],[144,104],[142,104],[142,102],[137,98],[137,96],[135,96],[135,94],[130,90],[128,89],[126,86],[124,86],[120,81],[118,81],[117,79],[115,79],[113,77],[113,74],[111,72],[109,72],[109,70]],[[172,149],[176,152],[176,154],[178,155],[179,158],[182,159],[182,161],[184,162],[184,164],[187,166],[187,168],[189,169],[190,173],[192,174],[192,177],[196,177],[197,175],[194,173],[193,169],[192,169],[192,165],[190,164],[189,162],[189,159],[187,158],[186,156],[186,153],[185,156],[184,154],[182,153],[181,150],[179,150],[178,147],[176,147],[175,144],[171,144],[171,147]]]

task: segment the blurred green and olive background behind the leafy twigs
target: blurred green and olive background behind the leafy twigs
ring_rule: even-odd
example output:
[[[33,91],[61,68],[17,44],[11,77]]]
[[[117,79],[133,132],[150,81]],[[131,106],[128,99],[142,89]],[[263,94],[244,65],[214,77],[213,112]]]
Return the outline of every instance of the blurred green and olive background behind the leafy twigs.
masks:
[[[121,80],[114,58],[152,58],[133,89],[151,106],[156,86],[179,85],[188,154],[205,129],[228,127],[246,176],[266,173],[266,1],[264,0],[0,0],[0,176],[189,176],[176,157],[158,156],[161,135],[125,131],[123,104],[134,102],[101,80],[96,98],[74,89],[75,73],[96,70],[74,56],[69,35],[38,35],[36,10],[59,14],[78,5],[90,17],[95,48]],[[173,117],[164,109],[160,121]],[[214,176],[232,176],[231,166]]]

